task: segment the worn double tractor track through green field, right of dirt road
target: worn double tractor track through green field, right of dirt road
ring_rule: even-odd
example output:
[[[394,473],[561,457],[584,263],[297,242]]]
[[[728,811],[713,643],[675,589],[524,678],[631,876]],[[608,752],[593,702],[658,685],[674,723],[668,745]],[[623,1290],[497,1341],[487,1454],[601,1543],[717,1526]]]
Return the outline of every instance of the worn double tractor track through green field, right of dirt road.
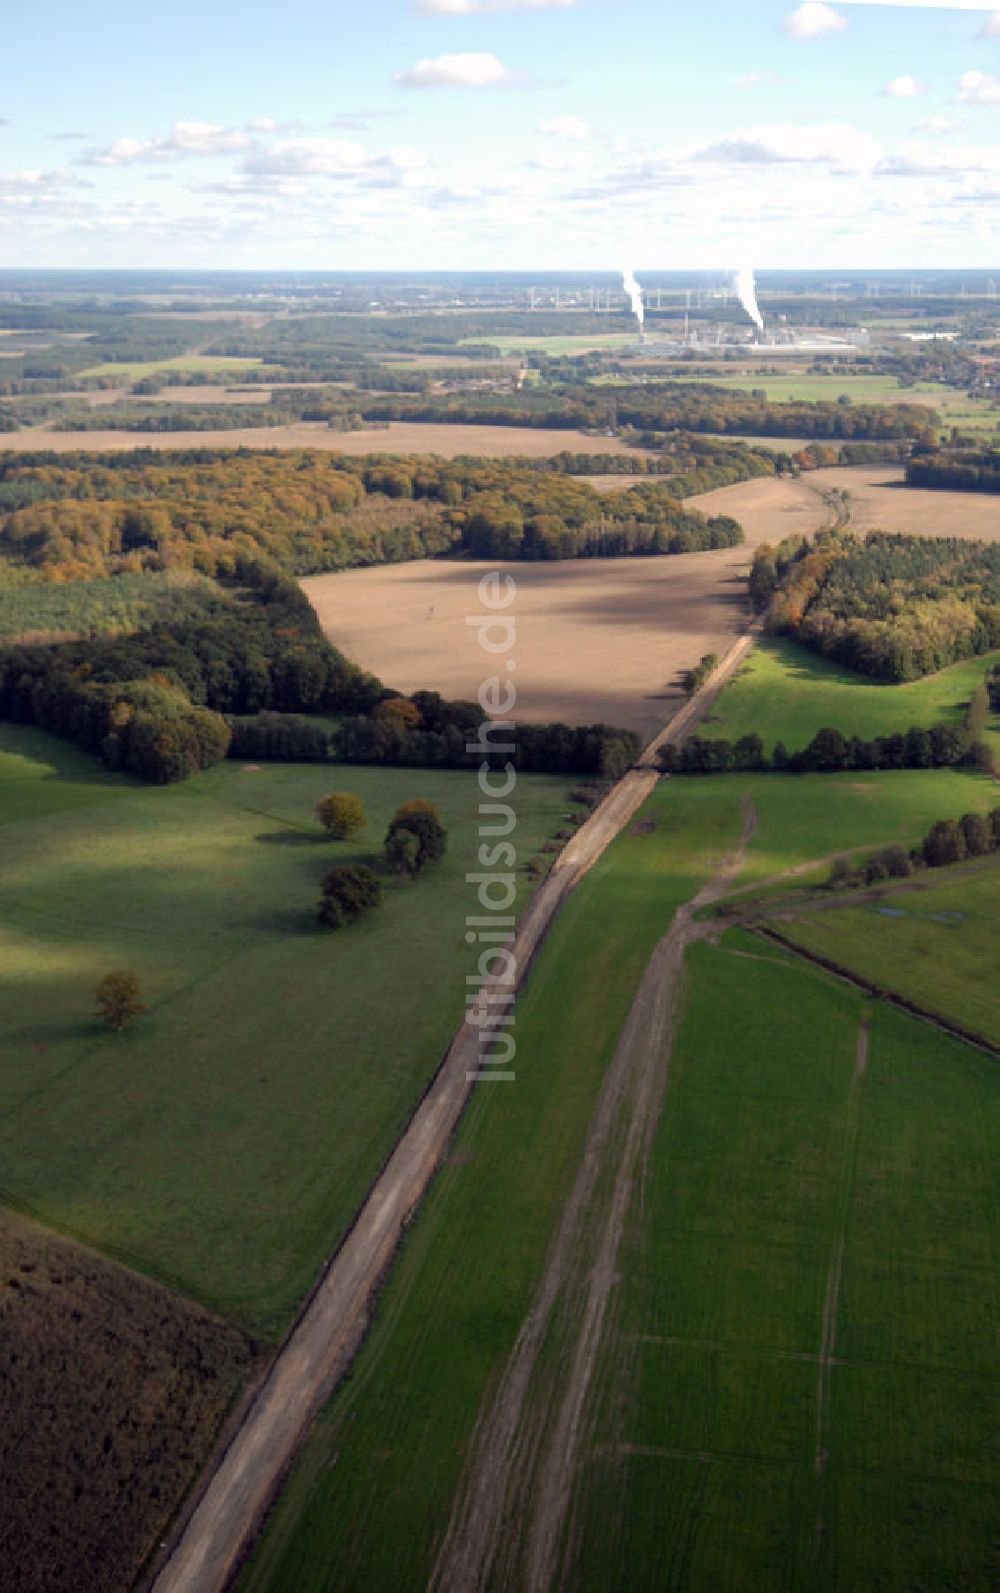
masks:
[[[492,1582],[530,1593],[553,1585],[621,1236],[659,1120],[685,956],[713,929],[712,922],[696,922],[694,913],[725,892],[742,865],[755,825],[756,816],[747,804],[737,851],[677,910],[646,965],[605,1075],[535,1301],[500,1384],[479,1415],[467,1475],[432,1577],[435,1593],[473,1593]],[[610,1193],[604,1198],[608,1180]],[[546,1391],[535,1384],[540,1352],[568,1298],[576,1306],[570,1370],[561,1389]],[[524,1544],[519,1568],[498,1564],[502,1539],[508,1550],[511,1544]]]

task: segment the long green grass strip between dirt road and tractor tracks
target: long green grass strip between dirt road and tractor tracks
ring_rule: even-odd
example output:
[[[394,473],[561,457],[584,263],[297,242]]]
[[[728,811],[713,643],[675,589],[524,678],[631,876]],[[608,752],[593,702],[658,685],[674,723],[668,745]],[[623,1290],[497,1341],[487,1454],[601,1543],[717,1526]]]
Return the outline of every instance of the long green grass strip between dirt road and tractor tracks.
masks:
[[[739,792],[697,804],[661,785],[643,820],[656,828],[619,836],[553,926],[518,1004],[518,1077],[475,1093],[242,1590],[427,1587],[632,996],[674,910],[736,843]]]

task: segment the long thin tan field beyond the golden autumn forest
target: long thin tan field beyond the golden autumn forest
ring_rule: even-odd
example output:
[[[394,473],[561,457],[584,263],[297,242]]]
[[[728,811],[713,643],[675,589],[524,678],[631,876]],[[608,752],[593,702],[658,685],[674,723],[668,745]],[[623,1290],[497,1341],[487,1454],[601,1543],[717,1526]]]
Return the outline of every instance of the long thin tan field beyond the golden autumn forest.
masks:
[[[18,452],[51,449],[61,454],[110,454],[127,452],[132,448],[320,448],[331,454],[439,454],[443,459],[455,459],[459,454],[482,459],[529,454],[533,459],[548,459],[565,449],[573,454],[642,452],[618,436],[586,436],[583,432],[548,432],[519,425],[433,425],[408,421],[393,421],[365,432],[333,432],[322,421],[225,432],[10,432],[3,436],[3,448]]]

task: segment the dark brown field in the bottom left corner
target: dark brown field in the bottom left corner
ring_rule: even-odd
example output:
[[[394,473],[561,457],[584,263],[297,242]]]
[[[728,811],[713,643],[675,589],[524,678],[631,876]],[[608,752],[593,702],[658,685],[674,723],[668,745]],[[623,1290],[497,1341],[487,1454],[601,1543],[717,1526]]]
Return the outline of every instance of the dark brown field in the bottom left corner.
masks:
[[[250,1341],[10,1211],[0,1263],[0,1583],[132,1587],[250,1370]]]

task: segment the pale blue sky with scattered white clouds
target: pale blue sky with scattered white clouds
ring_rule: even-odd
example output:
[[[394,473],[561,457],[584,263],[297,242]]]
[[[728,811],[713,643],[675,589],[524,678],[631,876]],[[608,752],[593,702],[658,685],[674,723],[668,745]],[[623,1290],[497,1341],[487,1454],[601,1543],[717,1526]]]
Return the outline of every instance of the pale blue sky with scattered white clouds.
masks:
[[[997,268],[1000,11],[32,0],[0,268]]]

